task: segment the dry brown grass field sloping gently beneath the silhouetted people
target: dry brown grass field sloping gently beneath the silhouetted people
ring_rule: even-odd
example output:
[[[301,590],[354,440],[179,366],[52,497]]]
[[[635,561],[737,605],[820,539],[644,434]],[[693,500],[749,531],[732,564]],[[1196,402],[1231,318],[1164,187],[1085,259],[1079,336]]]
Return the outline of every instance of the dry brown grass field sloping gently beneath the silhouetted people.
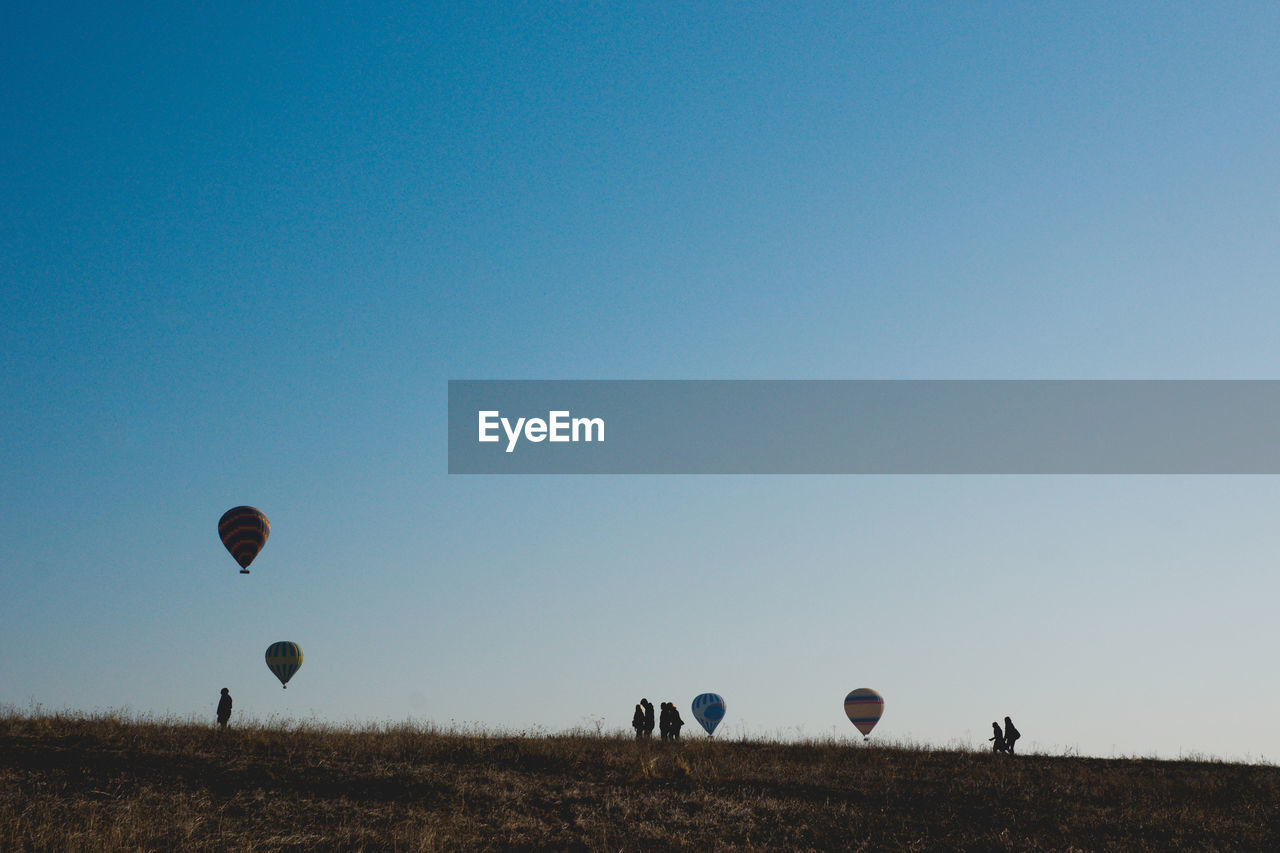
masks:
[[[1276,850],[1280,768],[0,713],[0,850],[526,849]]]

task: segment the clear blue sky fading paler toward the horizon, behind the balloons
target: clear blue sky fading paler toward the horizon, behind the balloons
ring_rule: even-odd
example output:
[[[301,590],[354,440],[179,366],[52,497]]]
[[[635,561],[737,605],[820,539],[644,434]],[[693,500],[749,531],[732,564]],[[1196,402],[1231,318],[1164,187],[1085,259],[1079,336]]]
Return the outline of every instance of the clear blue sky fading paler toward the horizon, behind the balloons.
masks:
[[[0,703],[1280,760],[1276,478],[445,474],[448,379],[1280,378],[1280,6],[477,5],[0,9]]]

